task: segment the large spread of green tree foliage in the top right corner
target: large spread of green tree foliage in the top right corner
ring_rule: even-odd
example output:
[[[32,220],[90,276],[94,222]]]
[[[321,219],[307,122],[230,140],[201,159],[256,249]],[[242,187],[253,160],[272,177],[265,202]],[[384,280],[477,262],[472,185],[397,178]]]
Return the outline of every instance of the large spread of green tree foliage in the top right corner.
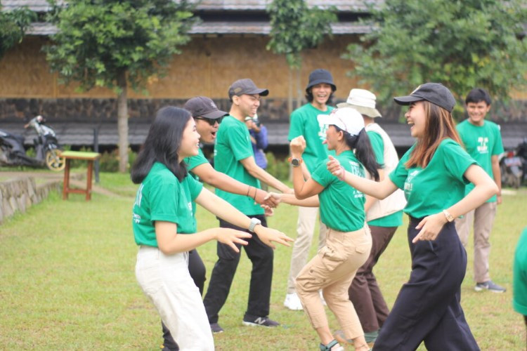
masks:
[[[426,81],[458,97],[480,86],[497,98],[526,85],[527,8],[521,0],[386,0],[373,30],[344,55],[379,100]]]

